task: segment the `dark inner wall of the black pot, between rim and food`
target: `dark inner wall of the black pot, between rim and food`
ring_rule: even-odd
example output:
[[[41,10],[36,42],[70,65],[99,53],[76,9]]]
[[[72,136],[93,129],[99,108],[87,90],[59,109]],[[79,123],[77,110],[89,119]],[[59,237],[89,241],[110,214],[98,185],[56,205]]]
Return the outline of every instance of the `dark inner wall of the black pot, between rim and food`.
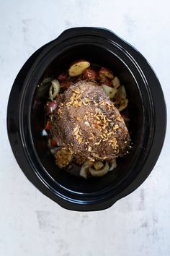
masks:
[[[129,100],[130,124],[129,132],[132,140],[133,148],[128,155],[123,158],[117,158],[117,168],[101,178],[84,179],[79,176],[73,176],[66,171],[61,170],[55,165],[53,155],[48,150],[47,137],[42,135],[45,128],[45,103],[48,99],[48,89],[37,87],[32,98],[31,111],[31,133],[33,146],[37,153],[37,157],[44,170],[59,184],[70,191],[78,193],[99,192],[103,189],[117,186],[124,180],[130,180],[134,175],[133,163],[138,154],[138,147],[143,134],[143,107],[140,90],[132,72],[122,61],[115,51],[109,51],[103,46],[93,44],[80,44],[79,46],[71,46],[62,51],[61,54],[56,53],[56,58],[45,67],[45,72],[39,74],[40,82],[44,77],[54,76],[55,78],[68,69],[71,62],[76,59],[86,59],[92,64],[98,64],[102,67],[108,67],[114,74],[120,78],[127,91]],[[40,82],[38,84],[40,84]]]

